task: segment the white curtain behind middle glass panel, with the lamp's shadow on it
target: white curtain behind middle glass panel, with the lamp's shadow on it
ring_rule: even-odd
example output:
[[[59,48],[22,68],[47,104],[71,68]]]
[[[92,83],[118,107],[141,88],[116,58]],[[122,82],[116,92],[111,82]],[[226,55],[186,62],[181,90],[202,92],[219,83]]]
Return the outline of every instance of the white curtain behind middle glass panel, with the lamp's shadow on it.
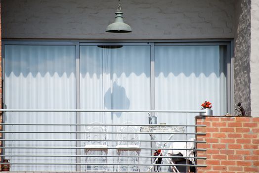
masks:
[[[80,46],[80,72],[81,109],[150,109],[149,45],[124,45],[120,48]],[[91,122],[148,124],[148,115],[81,114],[81,123]],[[109,127],[108,130],[116,131],[116,127]],[[150,138],[148,135],[143,137]],[[117,135],[110,135],[108,138],[117,139]],[[110,142],[108,145],[115,147],[116,144]],[[141,144],[142,147],[145,145]],[[116,155],[116,150],[109,151],[109,154]],[[141,154],[150,155],[150,151],[141,151]],[[109,159],[109,162],[118,161]],[[113,168],[109,169],[112,171]],[[114,169],[116,171],[117,168]]]

